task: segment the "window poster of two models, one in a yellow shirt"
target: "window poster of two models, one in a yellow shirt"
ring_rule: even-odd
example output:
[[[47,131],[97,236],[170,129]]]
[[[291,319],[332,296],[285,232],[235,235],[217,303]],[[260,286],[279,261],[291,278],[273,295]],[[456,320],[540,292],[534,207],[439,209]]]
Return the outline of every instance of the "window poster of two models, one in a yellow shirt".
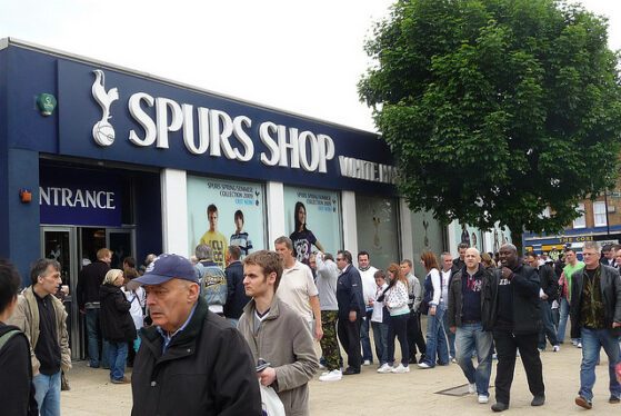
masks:
[[[226,267],[227,249],[239,246],[242,258],[264,245],[264,191],[261,184],[188,176],[190,255],[199,244],[213,249]]]

